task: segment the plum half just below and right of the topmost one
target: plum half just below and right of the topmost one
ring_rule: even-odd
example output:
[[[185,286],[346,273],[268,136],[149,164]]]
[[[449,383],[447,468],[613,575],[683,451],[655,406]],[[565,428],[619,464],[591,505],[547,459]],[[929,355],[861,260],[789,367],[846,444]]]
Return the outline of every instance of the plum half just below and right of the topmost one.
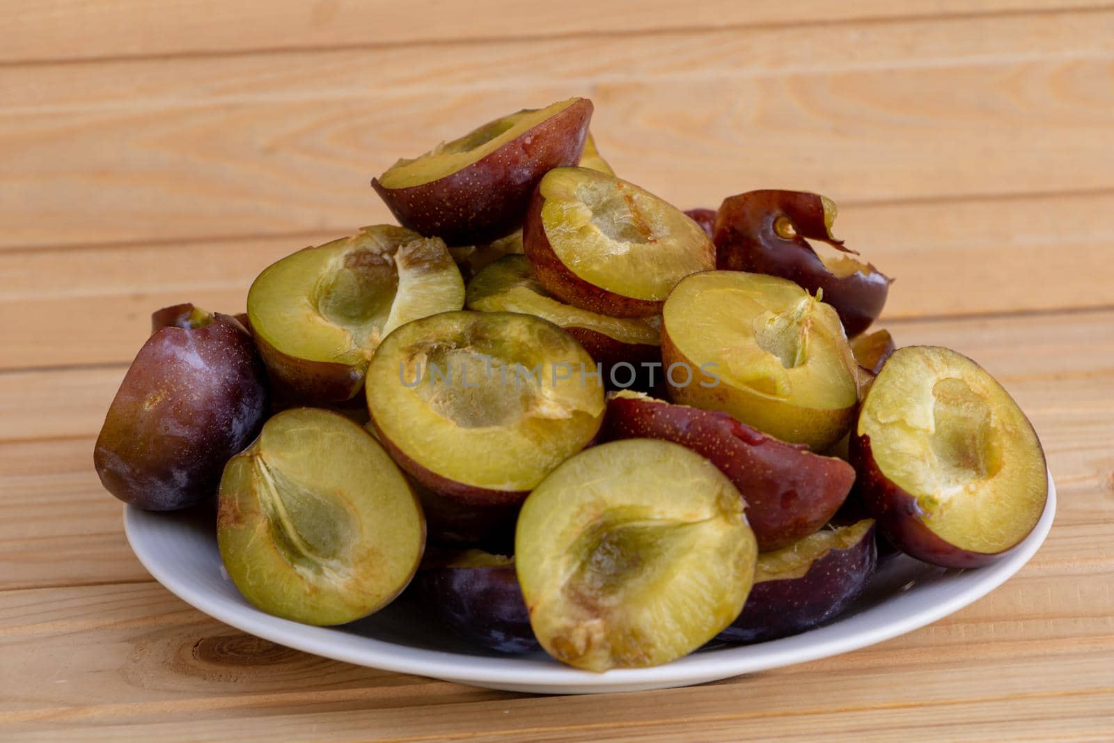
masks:
[[[541,178],[522,245],[549,294],[613,317],[661,314],[678,281],[715,266],[712,242],[684,212],[588,168]]]

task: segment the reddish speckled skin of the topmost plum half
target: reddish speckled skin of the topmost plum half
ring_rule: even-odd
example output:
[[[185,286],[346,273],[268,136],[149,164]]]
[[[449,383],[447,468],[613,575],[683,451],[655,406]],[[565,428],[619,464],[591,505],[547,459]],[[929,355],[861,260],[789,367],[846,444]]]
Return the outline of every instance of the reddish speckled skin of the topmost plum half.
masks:
[[[580,98],[494,153],[437,180],[409,188],[371,182],[404,227],[450,246],[504,237],[522,224],[534,187],[548,170],[580,162],[592,120]]]

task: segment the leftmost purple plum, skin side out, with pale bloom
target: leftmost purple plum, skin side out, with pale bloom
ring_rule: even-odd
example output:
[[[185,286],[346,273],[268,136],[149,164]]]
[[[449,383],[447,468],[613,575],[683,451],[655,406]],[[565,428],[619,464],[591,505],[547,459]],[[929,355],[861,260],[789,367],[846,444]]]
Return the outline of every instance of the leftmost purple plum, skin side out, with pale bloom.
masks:
[[[97,437],[100,481],[146,510],[209,498],[228,459],[258,434],[267,397],[263,363],[234,317],[214,314],[198,327],[157,330],[131,362]]]

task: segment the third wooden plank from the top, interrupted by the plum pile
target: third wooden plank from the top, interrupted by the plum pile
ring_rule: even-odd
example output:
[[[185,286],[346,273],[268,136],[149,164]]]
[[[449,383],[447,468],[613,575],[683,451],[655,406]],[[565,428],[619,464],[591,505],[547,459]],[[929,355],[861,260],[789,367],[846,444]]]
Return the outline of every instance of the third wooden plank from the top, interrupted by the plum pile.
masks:
[[[1063,310],[1114,305],[1114,262],[1095,260],[1114,253],[1102,216],[1112,209],[1114,192],[861,205],[842,211],[837,232],[897,277],[886,320]],[[193,301],[243,311],[260,271],[335,236],[0,251],[0,369],[128,362],[153,310]]]

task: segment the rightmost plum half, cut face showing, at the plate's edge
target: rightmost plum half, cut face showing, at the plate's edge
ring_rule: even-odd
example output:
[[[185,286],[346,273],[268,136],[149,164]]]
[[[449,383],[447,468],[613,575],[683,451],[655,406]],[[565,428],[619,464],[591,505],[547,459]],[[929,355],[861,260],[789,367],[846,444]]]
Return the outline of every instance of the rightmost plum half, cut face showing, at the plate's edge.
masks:
[[[994,561],[1033,530],[1048,497],[1044,450],[1009,393],[938,346],[898,349],[851,436],[856,487],[901,551],[944,567]]]

